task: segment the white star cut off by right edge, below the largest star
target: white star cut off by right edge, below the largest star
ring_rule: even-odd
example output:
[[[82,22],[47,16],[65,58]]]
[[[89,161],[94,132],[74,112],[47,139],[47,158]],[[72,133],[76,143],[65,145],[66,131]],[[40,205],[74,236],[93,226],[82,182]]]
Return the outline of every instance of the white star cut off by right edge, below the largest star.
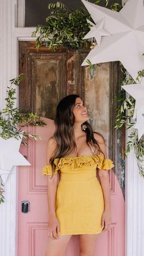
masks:
[[[139,84],[128,84],[121,87],[136,100],[133,117],[134,119],[136,118],[134,128],[138,130],[140,139],[144,133],[144,78]]]

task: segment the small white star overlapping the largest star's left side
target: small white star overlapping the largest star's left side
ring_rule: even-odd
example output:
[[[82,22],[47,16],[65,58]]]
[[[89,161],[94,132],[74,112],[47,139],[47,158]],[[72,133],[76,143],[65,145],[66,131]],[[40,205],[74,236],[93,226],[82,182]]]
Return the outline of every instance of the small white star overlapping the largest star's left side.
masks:
[[[101,43],[102,35],[110,35],[109,32],[103,29],[104,18],[101,21],[99,21],[96,25],[89,20],[87,20],[87,22],[92,25],[92,28],[90,29],[90,32],[88,32],[87,35],[85,35],[84,39],[95,37],[95,40],[99,46]]]

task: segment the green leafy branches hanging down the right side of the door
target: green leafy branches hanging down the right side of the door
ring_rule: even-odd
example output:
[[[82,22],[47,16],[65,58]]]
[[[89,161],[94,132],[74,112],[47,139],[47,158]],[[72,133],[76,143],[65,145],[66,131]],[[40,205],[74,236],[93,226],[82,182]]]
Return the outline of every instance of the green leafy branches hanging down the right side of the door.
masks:
[[[134,79],[129,75],[124,67],[121,67],[124,74],[124,79],[121,85],[135,84]],[[144,76],[144,70],[138,72],[137,81]],[[117,120],[115,122],[115,128],[120,129],[123,125],[126,129],[130,129],[134,126],[135,120],[133,119],[135,99],[131,95],[126,95],[125,91],[121,89],[119,97],[117,97],[118,108],[117,108]],[[133,149],[137,158],[137,165],[139,167],[139,174],[144,177],[144,135],[138,137],[138,131],[134,128],[131,129],[129,134],[129,141],[126,147],[126,156]]]

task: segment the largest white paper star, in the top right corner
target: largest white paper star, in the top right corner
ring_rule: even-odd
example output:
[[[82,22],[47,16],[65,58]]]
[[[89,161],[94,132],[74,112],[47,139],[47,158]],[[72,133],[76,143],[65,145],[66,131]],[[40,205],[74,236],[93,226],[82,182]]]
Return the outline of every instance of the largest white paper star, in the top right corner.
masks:
[[[95,23],[105,18],[104,29],[109,37],[101,39],[101,45],[90,51],[87,59],[92,64],[120,60],[136,81],[137,73],[143,70],[144,59],[144,7],[143,0],[129,0],[120,12],[82,0]]]

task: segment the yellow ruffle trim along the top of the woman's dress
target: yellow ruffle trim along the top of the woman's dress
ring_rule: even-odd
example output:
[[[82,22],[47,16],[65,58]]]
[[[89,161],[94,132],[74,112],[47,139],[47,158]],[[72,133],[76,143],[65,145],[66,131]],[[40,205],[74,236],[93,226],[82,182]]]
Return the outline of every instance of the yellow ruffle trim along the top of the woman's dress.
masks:
[[[99,170],[109,170],[114,167],[113,162],[109,158],[103,158],[101,155],[88,155],[88,156],[67,156],[66,158],[56,158],[54,160],[56,170],[60,170],[64,164],[68,164],[71,169],[82,168],[82,166],[95,166]]]

